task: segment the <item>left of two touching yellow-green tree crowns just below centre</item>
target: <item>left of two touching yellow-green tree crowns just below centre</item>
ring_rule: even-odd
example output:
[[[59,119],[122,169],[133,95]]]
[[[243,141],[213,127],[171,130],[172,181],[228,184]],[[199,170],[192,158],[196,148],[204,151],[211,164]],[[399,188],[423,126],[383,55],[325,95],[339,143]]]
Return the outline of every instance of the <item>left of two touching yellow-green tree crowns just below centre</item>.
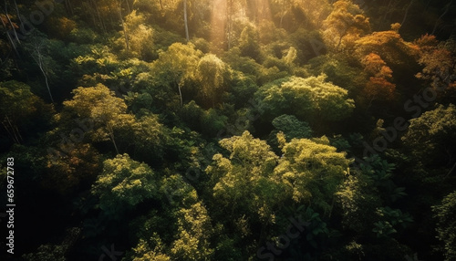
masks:
[[[206,172],[211,176],[213,197],[223,206],[223,213],[239,218],[249,213],[263,226],[273,222],[274,213],[283,201],[284,187],[274,168],[278,157],[265,141],[242,136],[220,141],[230,152],[228,158],[218,153]]]

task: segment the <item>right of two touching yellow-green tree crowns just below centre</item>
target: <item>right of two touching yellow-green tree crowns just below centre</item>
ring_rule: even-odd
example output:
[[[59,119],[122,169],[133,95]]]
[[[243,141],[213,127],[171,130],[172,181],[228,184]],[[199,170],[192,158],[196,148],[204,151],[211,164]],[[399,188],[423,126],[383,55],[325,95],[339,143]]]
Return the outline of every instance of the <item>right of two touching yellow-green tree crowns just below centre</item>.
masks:
[[[282,177],[287,193],[296,203],[313,204],[324,214],[330,214],[335,193],[348,173],[350,161],[345,153],[337,152],[326,137],[285,142],[283,134],[278,134],[278,139],[283,155],[275,174]]]

